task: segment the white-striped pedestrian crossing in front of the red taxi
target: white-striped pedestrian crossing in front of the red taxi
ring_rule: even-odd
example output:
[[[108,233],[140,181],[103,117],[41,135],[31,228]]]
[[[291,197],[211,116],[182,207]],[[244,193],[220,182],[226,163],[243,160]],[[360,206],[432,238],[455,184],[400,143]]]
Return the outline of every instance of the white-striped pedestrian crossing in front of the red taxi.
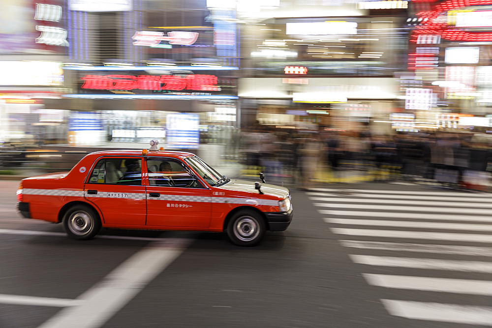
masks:
[[[492,325],[491,194],[314,188],[307,196],[366,282],[389,296],[380,298],[389,314]]]

